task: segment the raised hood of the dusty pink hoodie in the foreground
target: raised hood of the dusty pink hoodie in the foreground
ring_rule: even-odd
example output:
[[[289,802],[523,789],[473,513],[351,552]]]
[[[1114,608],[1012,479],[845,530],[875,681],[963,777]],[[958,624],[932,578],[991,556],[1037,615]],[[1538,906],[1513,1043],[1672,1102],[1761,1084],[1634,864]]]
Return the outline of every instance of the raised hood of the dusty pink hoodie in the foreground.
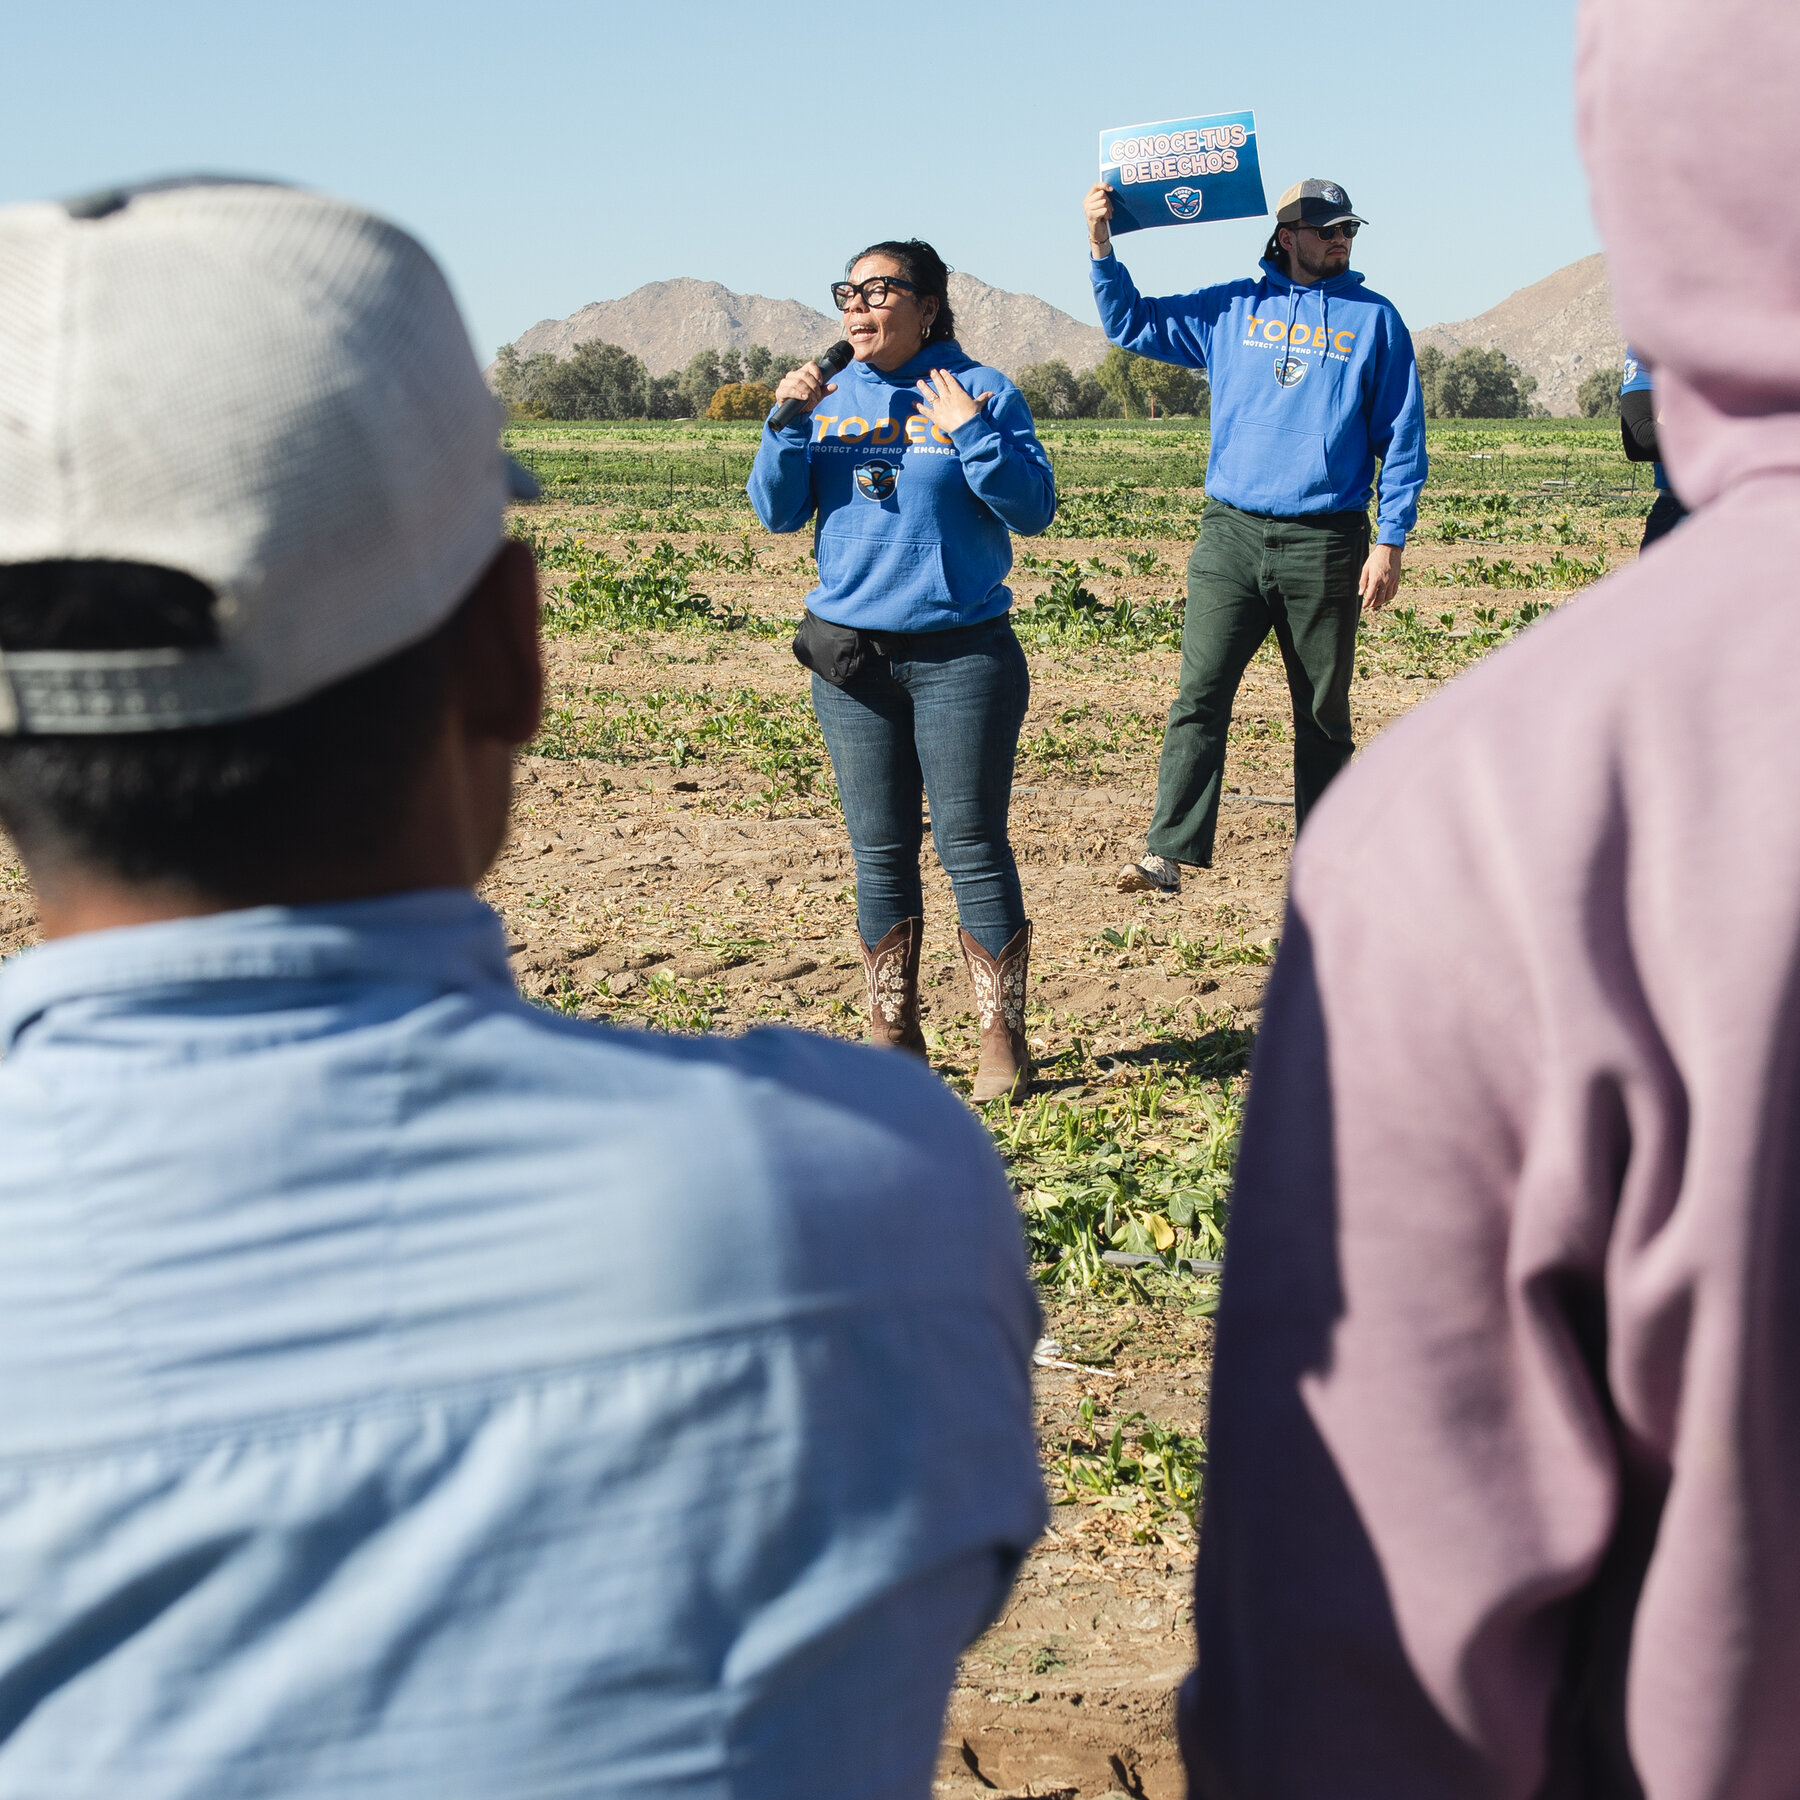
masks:
[[[1800,7],[1584,0],[1582,155],[1625,338],[1688,506],[1800,472]]]

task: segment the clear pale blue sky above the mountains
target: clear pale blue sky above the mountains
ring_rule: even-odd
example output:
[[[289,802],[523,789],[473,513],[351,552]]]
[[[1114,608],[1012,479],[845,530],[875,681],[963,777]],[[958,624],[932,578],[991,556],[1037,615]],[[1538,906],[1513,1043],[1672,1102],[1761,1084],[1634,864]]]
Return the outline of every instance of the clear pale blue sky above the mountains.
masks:
[[[929,238],[1093,319],[1103,126],[1249,106],[1271,200],[1343,182],[1355,266],[1409,324],[1595,250],[1575,0],[745,7],[310,0],[7,7],[0,200],[173,169],[364,202],[443,259],[486,356],[698,275],[824,308],[844,256]],[[1262,221],[1123,241],[1147,292],[1247,272]]]

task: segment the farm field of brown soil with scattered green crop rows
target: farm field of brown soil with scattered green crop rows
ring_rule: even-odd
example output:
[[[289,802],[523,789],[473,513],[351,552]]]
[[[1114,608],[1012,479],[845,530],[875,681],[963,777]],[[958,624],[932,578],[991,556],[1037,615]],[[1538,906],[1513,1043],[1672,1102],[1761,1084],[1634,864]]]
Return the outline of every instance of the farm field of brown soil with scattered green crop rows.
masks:
[[[1157,1800],[1183,1791],[1172,1696],[1192,1658],[1213,1271],[1292,842],[1289,700],[1271,643],[1231,729],[1217,868],[1175,900],[1114,893],[1148,819],[1208,437],[1190,419],[1069,421],[1044,441],[1062,511],[1017,544],[1013,583],[1033,680],[1013,826],[1040,1067],[1026,1102],[986,1120],[1055,1345],[1037,1406],[1057,1505],[965,1658],[938,1791]],[[756,524],[754,443],[731,425],[509,432],[545,490],[513,531],[544,567],[551,697],[486,898],[545,1006],[860,1037],[850,846],[788,652],[810,535]],[[1364,626],[1364,743],[1629,562],[1652,499],[1615,421],[1436,425],[1431,452],[1399,601]],[[927,1040],[967,1093],[976,1030],[929,848],[925,895]],[[0,952],[32,934],[0,841]]]

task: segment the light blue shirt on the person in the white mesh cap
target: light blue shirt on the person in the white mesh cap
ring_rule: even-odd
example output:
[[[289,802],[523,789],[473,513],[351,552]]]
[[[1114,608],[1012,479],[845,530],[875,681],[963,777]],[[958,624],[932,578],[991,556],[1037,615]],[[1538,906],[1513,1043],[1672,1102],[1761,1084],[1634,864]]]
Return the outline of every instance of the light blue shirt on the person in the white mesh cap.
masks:
[[[0,968],[0,1800],[911,1796],[1044,1521],[979,1123],[464,893]]]

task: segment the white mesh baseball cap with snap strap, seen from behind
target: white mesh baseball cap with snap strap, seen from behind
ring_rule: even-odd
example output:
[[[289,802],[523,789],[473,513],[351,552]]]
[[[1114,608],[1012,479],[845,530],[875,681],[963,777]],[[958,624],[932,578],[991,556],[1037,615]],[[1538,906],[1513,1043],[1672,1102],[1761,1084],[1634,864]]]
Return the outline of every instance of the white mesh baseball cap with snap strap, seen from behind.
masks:
[[[428,635],[520,490],[500,423],[437,265],[360,207],[200,176],[0,209],[0,563],[176,569],[220,635],[0,650],[0,733],[245,718]]]

